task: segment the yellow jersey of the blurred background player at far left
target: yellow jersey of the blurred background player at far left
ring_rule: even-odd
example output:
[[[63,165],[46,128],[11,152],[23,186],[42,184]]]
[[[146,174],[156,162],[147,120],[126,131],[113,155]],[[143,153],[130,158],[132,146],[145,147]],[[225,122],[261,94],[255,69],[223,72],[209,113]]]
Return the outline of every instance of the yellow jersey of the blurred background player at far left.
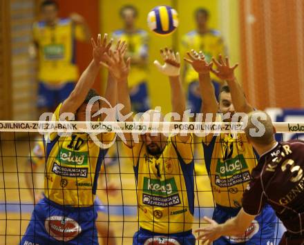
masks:
[[[82,26],[75,25],[70,19],[59,19],[54,27],[40,21],[34,23],[33,39],[39,49],[40,81],[46,84],[77,81],[75,40],[86,39]]]

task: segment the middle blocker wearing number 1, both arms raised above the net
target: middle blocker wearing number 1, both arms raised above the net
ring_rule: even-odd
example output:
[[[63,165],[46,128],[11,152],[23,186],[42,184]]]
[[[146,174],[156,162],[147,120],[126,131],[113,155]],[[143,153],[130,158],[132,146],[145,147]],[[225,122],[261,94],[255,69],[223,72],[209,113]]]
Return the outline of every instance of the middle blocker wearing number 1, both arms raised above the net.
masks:
[[[171,86],[172,112],[182,115],[186,108],[182,84],[180,81],[180,57],[173,50],[161,50],[164,65],[155,61],[160,72],[169,77]],[[130,59],[124,63],[108,57],[104,64],[119,80],[118,102],[124,105],[122,115],[131,112],[128,93],[128,75]],[[140,120],[162,115],[158,110],[144,112]],[[146,118],[147,119],[147,118]],[[131,120],[129,118],[129,120]],[[175,135],[167,137],[162,133],[145,133],[136,142],[131,134],[125,134],[129,157],[133,159],[133,168],[137,184],[137,202],[140,230],[133,235],[133,244],[195,244],[192,235],[194,212],[193,181],[193,142],[192,136]]]

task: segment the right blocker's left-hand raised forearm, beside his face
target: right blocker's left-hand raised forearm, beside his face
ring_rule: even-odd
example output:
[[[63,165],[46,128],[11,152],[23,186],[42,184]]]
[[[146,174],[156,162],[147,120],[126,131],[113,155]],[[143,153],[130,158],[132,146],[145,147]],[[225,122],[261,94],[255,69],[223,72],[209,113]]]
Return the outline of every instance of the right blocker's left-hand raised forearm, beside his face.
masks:
[[[210,74],[199,74],[198,81],[200,82],[200,96],[202,99],[202,112],[214,113],[218,111],[218,102],[214,92],[213,84],[211,83]]]

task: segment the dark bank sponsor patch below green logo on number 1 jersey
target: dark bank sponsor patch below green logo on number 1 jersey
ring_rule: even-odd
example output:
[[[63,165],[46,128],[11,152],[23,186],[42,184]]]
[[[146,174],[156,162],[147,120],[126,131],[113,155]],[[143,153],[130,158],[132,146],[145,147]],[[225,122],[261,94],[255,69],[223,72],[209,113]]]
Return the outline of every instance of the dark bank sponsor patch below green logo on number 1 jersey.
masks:
[[[146,205],[169,207],[180,204],[180,196],[178,194],[170,197],[157,197],[153,195],[142,195],[142,202]]]

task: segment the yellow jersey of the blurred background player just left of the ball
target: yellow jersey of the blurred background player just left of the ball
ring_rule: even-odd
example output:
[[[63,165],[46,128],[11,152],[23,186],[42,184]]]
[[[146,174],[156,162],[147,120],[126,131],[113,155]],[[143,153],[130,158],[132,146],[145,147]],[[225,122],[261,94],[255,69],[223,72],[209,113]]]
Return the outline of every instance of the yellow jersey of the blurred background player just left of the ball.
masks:
[[[149,52],[149,37],[148,33],[145,30],[137,30],[134,33],[127,33],[124,30],[116,30],[112,33],[112,37],[115,41],[121,39],[122,41],[126,41],[128,44],[129,55],[135,55],[137,57],[148,58]],[[148,75],[148,66],[140,66],[132,64],[130,74],[129,74],[129,87],[137,86],[138,84],[142,84],[142,82],[146,82]]]

